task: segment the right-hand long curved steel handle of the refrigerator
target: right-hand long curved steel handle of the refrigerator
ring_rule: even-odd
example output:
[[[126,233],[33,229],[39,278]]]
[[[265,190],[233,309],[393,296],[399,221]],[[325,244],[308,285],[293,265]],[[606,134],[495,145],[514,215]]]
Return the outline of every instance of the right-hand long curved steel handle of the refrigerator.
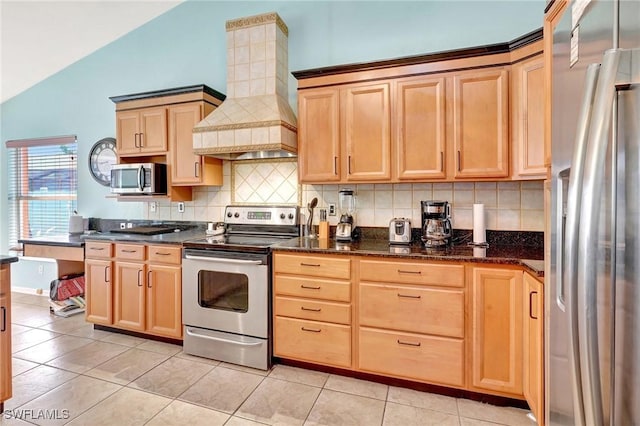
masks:
[[[598,222],[604,181],[605,158],[611,134],[613,100],[616,94],[616,79],[621,51],[605,52],[595,98],[593,118],[589,126],[589,140],[585,162],[582,190],[582,213],[578,233],[578,335],[580,374],[584,418],[589,425],[603,425],[600,360],[598,355],[597,316],[597,243]]]

